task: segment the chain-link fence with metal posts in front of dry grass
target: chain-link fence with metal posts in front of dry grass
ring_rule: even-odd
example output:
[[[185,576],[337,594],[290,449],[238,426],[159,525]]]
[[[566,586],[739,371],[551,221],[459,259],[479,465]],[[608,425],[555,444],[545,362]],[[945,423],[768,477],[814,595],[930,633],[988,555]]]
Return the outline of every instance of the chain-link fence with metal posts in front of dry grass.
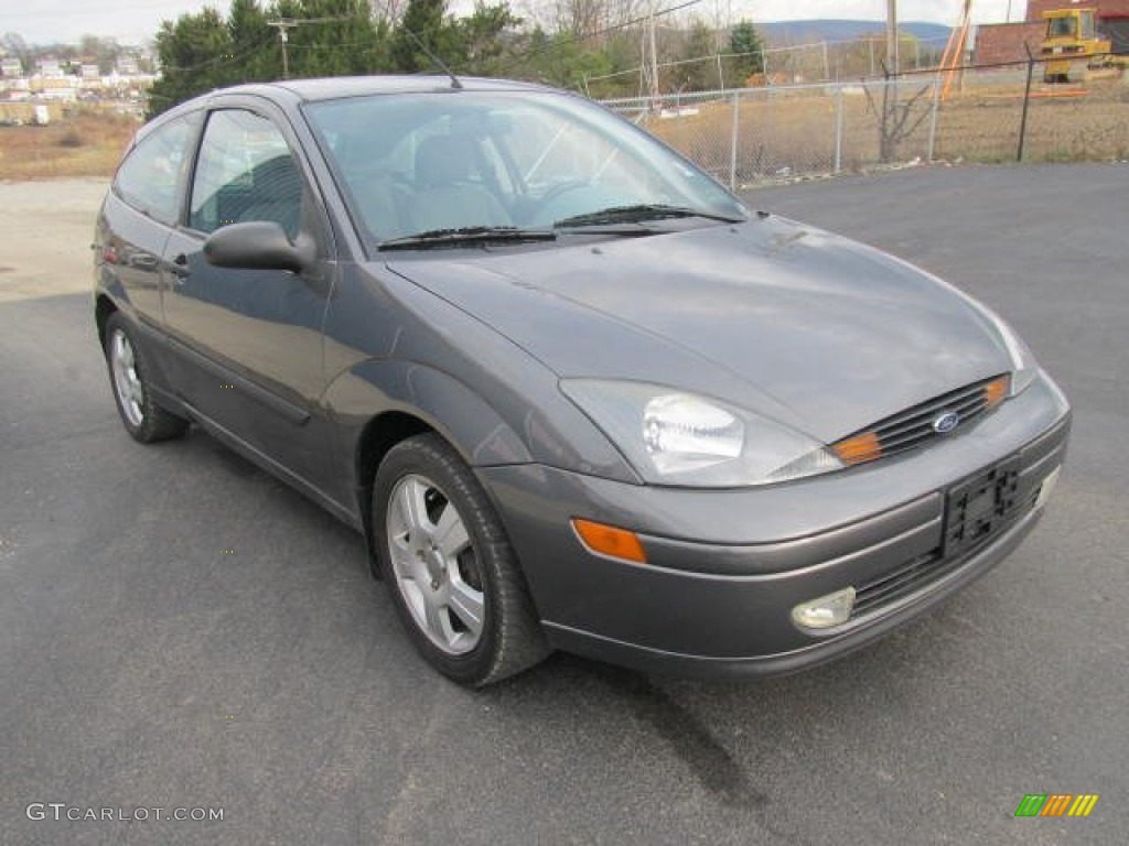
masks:
[[[920,161],[1129,158],[1129,77],[1041,80],[1024,63],[965,70],[947,91],[928,74],[603,104],[735,190]]]

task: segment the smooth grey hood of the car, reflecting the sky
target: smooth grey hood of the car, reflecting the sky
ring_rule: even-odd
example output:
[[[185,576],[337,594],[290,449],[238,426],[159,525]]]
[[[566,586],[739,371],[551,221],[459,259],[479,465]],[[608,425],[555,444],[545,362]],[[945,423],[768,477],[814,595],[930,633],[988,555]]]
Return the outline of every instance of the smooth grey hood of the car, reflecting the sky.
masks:
[[[1012,369],[965,296],[794,221],[574,237],[387,266],[561,377],[715,396],[823,442]]]

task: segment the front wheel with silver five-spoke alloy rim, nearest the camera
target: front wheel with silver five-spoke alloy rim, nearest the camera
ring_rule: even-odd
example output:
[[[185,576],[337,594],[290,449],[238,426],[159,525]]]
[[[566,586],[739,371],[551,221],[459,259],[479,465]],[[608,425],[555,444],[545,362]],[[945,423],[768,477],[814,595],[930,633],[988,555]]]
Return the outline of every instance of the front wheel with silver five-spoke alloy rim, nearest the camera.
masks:
[[[373,537],[409,637],[439,672],[483,687],[549,654],[501,521],[438,435],[401,441],[380,462]]]

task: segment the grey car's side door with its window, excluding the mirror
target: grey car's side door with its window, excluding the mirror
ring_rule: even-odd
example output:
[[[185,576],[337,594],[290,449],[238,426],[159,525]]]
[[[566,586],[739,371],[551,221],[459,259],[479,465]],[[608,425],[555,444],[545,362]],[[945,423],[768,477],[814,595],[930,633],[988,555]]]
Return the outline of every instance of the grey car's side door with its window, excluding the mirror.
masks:
[[[324,433],[322,324],[331,290],[329,228],[310,200],[279,118],[212,111],[202,133],[187,224],[165,248],[165,320],[185,400],[219,434],[318,484]],[[273,221],[317,243],[304,274],[216,267],[207,237],[236,222]]]

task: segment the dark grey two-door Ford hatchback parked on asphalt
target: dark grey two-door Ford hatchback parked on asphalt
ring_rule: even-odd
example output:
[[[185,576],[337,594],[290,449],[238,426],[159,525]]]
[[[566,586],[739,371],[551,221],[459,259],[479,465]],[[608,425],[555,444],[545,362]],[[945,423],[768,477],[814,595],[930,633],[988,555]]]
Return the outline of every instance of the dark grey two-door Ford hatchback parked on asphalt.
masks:
[[[1066,449],[987,308],[541,87],[205,95],[138,133],[95,247],[129,433],[194,423],[356,527],[467,685],[840,655],[1014,549]]]

